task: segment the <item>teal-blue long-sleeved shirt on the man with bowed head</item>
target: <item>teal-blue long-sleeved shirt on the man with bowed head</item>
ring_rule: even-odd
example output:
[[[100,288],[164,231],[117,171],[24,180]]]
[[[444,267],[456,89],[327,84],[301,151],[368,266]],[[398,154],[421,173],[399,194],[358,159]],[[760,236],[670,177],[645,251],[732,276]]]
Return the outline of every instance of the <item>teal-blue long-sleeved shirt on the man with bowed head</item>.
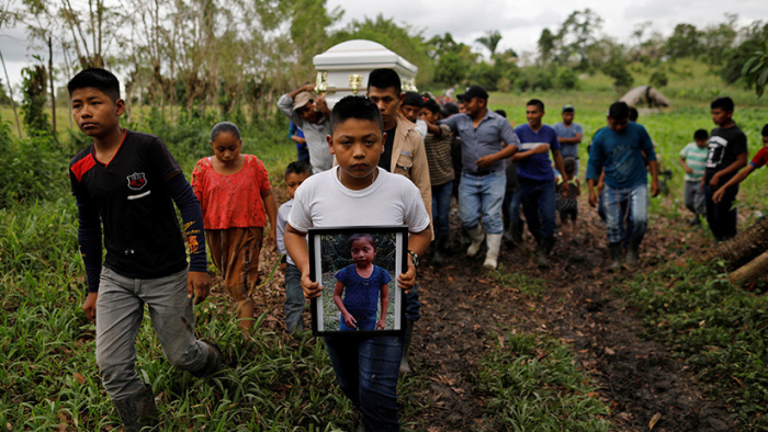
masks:
[[[656,160],[656,152],[643,125],[630,122],[621,134],[605,127],[592,139],[587,180],[599,180],[600,171],[605,170],[606,184],[613,189],[647,183],[646,160]]]

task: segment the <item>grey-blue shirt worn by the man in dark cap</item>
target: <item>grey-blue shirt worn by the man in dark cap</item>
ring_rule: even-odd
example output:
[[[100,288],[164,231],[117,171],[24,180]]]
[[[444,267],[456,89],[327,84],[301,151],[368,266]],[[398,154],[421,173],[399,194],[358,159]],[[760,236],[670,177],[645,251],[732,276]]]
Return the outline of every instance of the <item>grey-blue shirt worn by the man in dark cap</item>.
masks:
[[[485,114],[477,128],[475,128],[472,117],[463,113],[452,115],[439,123],[448,125],[453,133],[458,133],[461,136],[462,172],[464,173],[476,174],[477,166],[475,161],[484,156],[501,151],[505,144],[516,146],[520,144],[507,118],[490,110]],[[504,160],[487,167],[487,170],[492,172],[504,169]]]

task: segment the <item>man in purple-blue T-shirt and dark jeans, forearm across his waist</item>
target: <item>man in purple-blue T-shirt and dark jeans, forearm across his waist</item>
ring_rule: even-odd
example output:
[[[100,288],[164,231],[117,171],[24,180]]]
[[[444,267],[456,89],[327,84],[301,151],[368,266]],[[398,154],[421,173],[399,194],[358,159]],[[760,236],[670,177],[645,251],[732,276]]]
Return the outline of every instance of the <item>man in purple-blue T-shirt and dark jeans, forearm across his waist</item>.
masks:
[[[515,128],[515,134],[522,143],[520,151],[512,156],[518,163],[520,189],[512,195],[510,211],[522,203],[528,230],[537,239],[537,264],[549,266],[549,255],[555,245],[555,173],[552,159],[560,172],[563,172],[563,158],[560,154],[557,134],[552,127],[542,124],[544,102],[532,99],[526,104],[528,124]],[[515,219],[515,212],[510,212]],[[512,220],[512,225],[519,220]]]

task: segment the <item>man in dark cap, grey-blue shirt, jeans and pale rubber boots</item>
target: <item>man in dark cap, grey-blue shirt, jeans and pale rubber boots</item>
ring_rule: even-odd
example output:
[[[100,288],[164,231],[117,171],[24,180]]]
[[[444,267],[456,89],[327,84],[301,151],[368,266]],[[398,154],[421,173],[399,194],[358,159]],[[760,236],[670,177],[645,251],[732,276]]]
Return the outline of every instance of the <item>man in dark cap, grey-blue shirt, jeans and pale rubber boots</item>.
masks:
[[[520,140],[506,118],[488,110],[488,92],[483,87],[467,88],[460,99],[464,101],[464,113],[441,123],[462,139],[459,217],[472,238],[466,254],[476,255],[485,238],[488,250],[483,265],[496,269],[504,230],[505,159],[515,155]]]

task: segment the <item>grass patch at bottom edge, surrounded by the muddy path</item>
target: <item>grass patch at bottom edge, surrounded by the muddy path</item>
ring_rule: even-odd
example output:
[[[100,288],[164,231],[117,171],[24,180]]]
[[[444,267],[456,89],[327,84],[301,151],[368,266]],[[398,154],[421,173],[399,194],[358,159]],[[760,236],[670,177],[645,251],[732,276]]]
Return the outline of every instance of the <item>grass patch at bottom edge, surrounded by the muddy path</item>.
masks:
[[[547,337],[498,337],[477,364],[487,418],[507,431],[608,431],[608,408],[592,393],[571,350]]]

